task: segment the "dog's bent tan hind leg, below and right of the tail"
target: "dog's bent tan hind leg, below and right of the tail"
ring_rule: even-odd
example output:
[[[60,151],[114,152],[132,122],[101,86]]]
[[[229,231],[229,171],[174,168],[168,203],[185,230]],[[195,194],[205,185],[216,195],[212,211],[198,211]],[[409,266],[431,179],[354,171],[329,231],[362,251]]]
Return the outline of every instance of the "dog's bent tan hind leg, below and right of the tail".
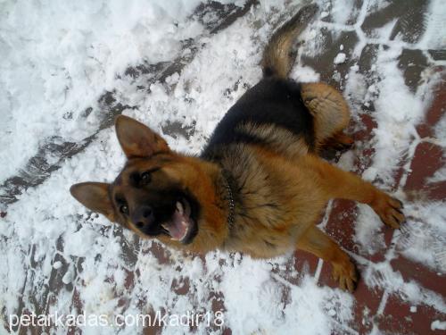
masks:
[[[301,97],[314,118],[316,149],[351,147],[353,139],[343,133],[350,110],[342,94],[323,83],[306,83],[301,84]]]

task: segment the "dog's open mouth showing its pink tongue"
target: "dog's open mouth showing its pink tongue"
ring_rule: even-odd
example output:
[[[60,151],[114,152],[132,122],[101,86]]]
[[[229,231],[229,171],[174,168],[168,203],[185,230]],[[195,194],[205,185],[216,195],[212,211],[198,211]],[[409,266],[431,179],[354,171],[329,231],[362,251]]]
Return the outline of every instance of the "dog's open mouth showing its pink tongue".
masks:
[[[195,222],[191,218],[192,208],[189,202],[182,198],[177,201],[176,209],[169,222],[161,227],[169,234],[170,239],[187,244],[193,238]]]

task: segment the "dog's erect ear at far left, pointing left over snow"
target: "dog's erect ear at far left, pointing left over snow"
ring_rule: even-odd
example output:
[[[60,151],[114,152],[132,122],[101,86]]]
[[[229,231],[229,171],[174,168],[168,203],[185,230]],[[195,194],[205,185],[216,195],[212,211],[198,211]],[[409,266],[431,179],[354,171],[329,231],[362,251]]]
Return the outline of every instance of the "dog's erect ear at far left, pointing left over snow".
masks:
[[[93,212],[105,215],[114,221],[114,210],[108,192],[109,184],[104,182],[81,182],[70,187],[71,196]]]

